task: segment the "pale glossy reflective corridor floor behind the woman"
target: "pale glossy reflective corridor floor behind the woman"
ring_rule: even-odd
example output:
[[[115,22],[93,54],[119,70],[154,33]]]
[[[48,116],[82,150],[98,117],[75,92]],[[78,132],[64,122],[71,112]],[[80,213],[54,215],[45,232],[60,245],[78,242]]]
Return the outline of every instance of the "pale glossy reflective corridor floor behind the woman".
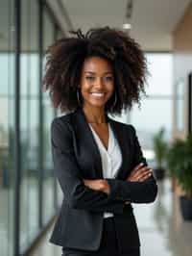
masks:
[[[141,238],[141,256],[191,256],[192,222],[180,216],[178,197],[168,179],[158,183],[153,204],[133,204]],[[60,246],[48,243],[50,232],[30,256],[60,256]],[[108,255],[109,256],[109,255]]]

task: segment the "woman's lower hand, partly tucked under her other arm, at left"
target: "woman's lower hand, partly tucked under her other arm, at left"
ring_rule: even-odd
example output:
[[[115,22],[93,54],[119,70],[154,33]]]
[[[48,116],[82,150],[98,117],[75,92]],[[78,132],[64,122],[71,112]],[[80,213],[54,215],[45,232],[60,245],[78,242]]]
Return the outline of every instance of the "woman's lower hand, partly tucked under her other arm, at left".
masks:
[[[84,185],[94,191],[109,193],[108,181],[105,179],[97,179],[97,180],[84,179]]]

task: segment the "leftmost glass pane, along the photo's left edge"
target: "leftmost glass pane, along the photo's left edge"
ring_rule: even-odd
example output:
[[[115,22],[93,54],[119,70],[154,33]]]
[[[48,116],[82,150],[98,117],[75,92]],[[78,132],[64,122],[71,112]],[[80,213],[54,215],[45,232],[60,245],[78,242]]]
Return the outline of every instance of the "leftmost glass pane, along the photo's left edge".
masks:
[[[14,3],[0,0],[0,241],[1,255],[13,249],[14,181]]]

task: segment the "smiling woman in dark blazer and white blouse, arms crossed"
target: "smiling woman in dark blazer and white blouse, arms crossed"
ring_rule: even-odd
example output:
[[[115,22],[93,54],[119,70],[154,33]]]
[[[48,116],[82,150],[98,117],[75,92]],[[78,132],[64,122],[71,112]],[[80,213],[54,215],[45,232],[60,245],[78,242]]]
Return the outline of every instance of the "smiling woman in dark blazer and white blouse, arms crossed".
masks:
[[[156,181],[134,127],[108,114],[139,103],[146,61],[124,32],[104,27],[73,35],[49,47],[44,77],[54,107],[70,111],[51,126],[63,201],[50,241],[62,255],[138,256],[131,203],[154,202]]]

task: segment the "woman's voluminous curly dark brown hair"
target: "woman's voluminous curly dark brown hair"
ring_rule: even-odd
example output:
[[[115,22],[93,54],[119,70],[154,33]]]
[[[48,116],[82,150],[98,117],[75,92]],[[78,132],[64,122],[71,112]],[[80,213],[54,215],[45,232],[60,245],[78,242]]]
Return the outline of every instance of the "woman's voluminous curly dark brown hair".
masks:
[[[132,109],[132,102],[140,108],[148,72],[140,45],[127,33],[109,27],[93,28],[85,34],[79,29],[71,34],[46,51],[43,90],[49,90],[54,108],[63,112],[81,107],[77,98],[81,72],[84,60],[93,56],[108,60],[114,72],[114,92],[105,106],[106,112],[121,114],[123,109]]]

